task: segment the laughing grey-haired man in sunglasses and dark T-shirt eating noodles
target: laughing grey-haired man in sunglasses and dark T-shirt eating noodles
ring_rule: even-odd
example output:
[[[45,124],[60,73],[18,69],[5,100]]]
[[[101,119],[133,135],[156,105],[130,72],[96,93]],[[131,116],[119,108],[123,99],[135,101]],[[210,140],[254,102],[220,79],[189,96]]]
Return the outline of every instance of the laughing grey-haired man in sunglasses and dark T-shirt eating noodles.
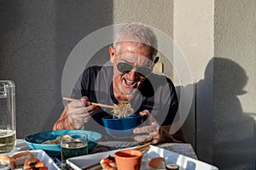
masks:
[[[108,105],[129,102],[135,112],[150,120],[133,130],[133,139],[151,144],[183,142],[180,130],[169,133],[177,114],[177,94],[169,78],[152,72],[159,59],[155,57],[156,48],[156,37],[148,26],[138,23],[122,26],[113,47],[109,47],[113,65],[84,70],[73,88],[72,98],[77,100],[66,106],[53,129],[83,128],[104,133],[102,117],[110,111],[90,102]]]

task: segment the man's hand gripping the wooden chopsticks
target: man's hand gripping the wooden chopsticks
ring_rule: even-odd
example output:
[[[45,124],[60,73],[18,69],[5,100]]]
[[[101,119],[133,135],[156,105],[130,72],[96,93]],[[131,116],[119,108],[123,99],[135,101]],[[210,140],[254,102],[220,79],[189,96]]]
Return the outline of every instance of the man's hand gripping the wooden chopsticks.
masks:
[[[70,102],[67,105],[67,117],[73,127],[79,129],[83,127],[84,123],[90,120],[90,116],[99,111],[99,107],[91,105],[89,99],[84,96],[81,99]]]

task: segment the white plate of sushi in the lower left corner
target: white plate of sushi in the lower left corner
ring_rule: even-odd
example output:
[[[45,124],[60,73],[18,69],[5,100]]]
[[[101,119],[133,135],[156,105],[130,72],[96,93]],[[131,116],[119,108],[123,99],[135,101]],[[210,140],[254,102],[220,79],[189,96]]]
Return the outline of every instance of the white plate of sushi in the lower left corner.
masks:
[[[60,167],[58,167],[56,164],[55,164],[55,161],[53,161],[45,152],[44,150],[29,150],[30,152],[32,152],[32,154],[34,156],[36,156],[40,161],[44,161],[44,166],[45,167],[48,167],[49,170],[61,170]],[[23,151],[20,151],[20,152],[23,152]],[[10,154],[10,156],[13,156],[17,153],[20,153],[20,152],[15,152],[15,153],[12,153]],[[17,168],[19,169],[19,168]],[[21,168],[20,168],[21,169]]]

